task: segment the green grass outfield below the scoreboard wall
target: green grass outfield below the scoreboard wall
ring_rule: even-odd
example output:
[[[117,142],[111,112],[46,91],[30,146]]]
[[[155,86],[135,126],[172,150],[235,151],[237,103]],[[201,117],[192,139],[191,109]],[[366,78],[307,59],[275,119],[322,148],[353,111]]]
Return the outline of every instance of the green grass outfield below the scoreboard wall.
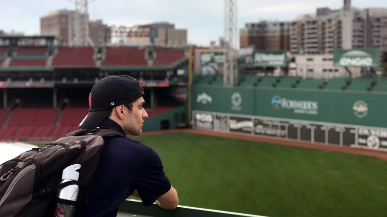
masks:
[[[180,205],[265,216],[387,216],[387,161],[185,133],[134,137]]]

